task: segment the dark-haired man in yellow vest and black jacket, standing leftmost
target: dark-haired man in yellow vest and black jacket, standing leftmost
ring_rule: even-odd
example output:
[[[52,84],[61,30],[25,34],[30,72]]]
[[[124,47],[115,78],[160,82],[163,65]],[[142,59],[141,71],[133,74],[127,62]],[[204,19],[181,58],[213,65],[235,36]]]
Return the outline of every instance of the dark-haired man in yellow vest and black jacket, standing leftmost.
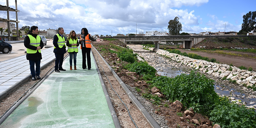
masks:
[[[41,79],[40,75],[40,61],[42,59],[41,50],[44,43],[40,36],[38,36],[38,27],[32,26],[24,39],[24,46],[27,48],[27,60],[29,60],[30,72],[32,80]],[[36,70],[35,70],[36,64]]]

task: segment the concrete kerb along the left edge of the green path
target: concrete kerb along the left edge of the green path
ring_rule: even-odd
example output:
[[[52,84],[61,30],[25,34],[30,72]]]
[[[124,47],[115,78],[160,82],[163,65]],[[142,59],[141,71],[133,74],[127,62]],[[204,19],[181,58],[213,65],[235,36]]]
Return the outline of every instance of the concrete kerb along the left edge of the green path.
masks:
[[[7,112],[2,116],[2,118],[0,119],[0,125],[5,121],[6,118],[8,118],[8,116],[9,116],[10,114],[12,114],[12,112],[13,112],[16,108],[18,108],[18,106],[19,106],[24,100],[26,100],[26,99],[29,97],[29,95],[30,95],[31,93],[33,93],[33,92],[36,90],[37,87],[40,86],[40,84],[41,84],[53,71],[54,71],[54,70],[52,70],[48,75],[46,75],[46,76],[45,76],[28,94],[26,94],[22,99],[20,99],[14,106],[12,106],[12,108],[10,108],[9,111],[7,111]]]

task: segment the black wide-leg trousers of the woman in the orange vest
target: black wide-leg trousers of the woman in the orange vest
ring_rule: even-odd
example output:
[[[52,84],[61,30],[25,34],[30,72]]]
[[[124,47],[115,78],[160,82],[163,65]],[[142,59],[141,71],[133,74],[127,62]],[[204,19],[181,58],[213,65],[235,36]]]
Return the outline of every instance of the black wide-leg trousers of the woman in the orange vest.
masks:
[[[91,48],[82,47],[82,59],[83,65],[82,68],[86,68],[86,57],[87,57],[87,66],[91,68]]]

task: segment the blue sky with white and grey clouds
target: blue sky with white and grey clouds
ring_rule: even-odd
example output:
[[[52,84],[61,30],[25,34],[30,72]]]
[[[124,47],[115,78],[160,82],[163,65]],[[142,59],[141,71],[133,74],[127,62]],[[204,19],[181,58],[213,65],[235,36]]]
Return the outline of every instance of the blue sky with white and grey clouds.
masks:
[[[66,34],[87,28],[91,35],[104,36],[168,33],[168,22],[176,16],[182,24],[180,33],[239,32],[243,15],[256,11],[255,0],[17,0],[17,4],[19,28],[63,27]],[[6,6],[6,0],[0,5]],[[15,0],[9,0],[9,7],[15,8]],[[9,16],[16,20],[15,12]],[[0,17],[7,19],[6,11],[0,11]]]

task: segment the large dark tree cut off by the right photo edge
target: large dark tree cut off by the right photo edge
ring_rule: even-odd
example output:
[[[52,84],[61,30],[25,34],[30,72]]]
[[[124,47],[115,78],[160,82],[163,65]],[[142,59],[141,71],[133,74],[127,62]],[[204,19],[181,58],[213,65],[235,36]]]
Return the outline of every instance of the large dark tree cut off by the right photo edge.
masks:
[[[256,25],[256,11],[249,12],[246,15],[243,15],[243,23],[242,29],[239,33],[248,33],[249,31],[253,30]]]

